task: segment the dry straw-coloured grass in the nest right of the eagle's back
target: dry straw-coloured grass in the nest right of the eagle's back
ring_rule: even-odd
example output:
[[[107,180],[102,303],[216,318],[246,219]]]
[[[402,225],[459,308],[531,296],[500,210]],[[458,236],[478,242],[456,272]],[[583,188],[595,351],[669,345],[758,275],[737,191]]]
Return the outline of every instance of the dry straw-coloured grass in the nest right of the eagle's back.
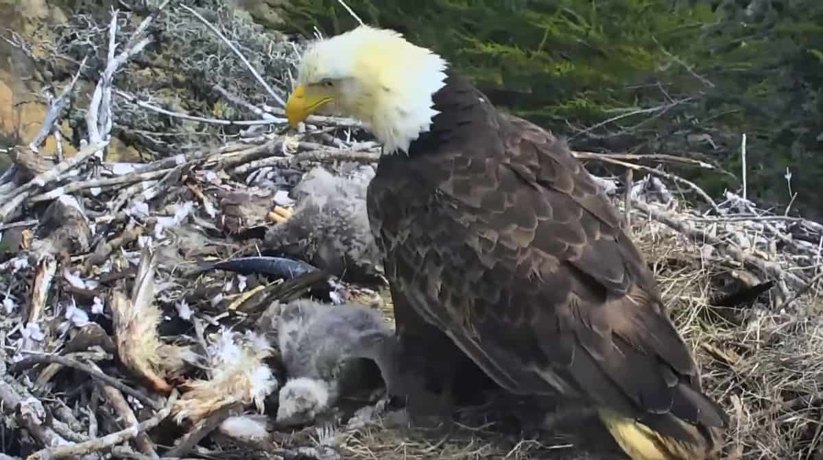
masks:
[[[635,225],[635,238],[692,345],[709,393],[732,416],[731,458],[819,458],[823,420],[823,301],[817,292],[776,311],[756,303],[730,321],[709,306],[720,277],[745,271],[704,260],[701,246],[658,222]],[[793,261],[777,254],[783,269]],[[680,262],[678,264],[677,262]],[[774,301],[774,299],[771,299]],[[778,305],[780,305],[778,303]]]

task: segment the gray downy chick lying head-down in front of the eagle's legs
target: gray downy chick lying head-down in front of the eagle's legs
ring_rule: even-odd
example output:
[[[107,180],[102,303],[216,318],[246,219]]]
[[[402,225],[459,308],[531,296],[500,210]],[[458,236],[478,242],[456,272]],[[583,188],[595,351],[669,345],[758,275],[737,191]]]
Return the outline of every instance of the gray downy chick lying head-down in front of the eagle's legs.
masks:
[[[374,361],[387,393],[393,393],[397,343],[377,311],[352,303],[292,301],[283,306],[277,330],[287,379],[278,396],[278,424],[310,423],[357,391],[364,358]]]

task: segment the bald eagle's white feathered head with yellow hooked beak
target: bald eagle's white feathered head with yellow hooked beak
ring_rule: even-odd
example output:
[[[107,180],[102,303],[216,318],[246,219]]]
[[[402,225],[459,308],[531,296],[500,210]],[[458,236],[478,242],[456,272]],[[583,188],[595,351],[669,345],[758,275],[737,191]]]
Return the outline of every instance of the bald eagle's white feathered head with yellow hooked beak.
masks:
[[[446,65],[393,30],[361,25],[306,49],[286,116],[293,127],[312,113],[356,118],[385,152],[408,150],[430,129]]]

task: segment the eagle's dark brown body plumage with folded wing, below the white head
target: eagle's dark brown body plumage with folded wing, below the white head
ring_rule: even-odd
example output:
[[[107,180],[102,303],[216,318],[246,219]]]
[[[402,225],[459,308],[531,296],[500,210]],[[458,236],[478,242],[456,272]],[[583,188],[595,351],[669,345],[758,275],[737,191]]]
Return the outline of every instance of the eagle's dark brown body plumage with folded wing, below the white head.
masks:
[[[486,114],[474,138],[435,117],[420,148],[443,150],[381,160],[389,281],[510,391],[579,393],[676,438],[672,416],[724,426],[607,197],[565,143]]]

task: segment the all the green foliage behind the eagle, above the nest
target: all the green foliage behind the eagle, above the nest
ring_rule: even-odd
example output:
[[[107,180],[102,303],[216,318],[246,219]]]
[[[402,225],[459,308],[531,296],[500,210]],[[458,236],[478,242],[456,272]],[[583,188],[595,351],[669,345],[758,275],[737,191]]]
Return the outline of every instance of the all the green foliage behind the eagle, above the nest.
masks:
[[[293,3],[287,32],[356,26],[337,0]],[[788,203],[788,168],[795,205],[823,215],[823,2],[347,3],[363,21],[435,49],[496,104],[578,148],[708,157],[739,175],[745,132],[749,195]],[[695,134],[710,141],[695,145]],[[710,193],[737,188],[728,176],[678,173]]]

